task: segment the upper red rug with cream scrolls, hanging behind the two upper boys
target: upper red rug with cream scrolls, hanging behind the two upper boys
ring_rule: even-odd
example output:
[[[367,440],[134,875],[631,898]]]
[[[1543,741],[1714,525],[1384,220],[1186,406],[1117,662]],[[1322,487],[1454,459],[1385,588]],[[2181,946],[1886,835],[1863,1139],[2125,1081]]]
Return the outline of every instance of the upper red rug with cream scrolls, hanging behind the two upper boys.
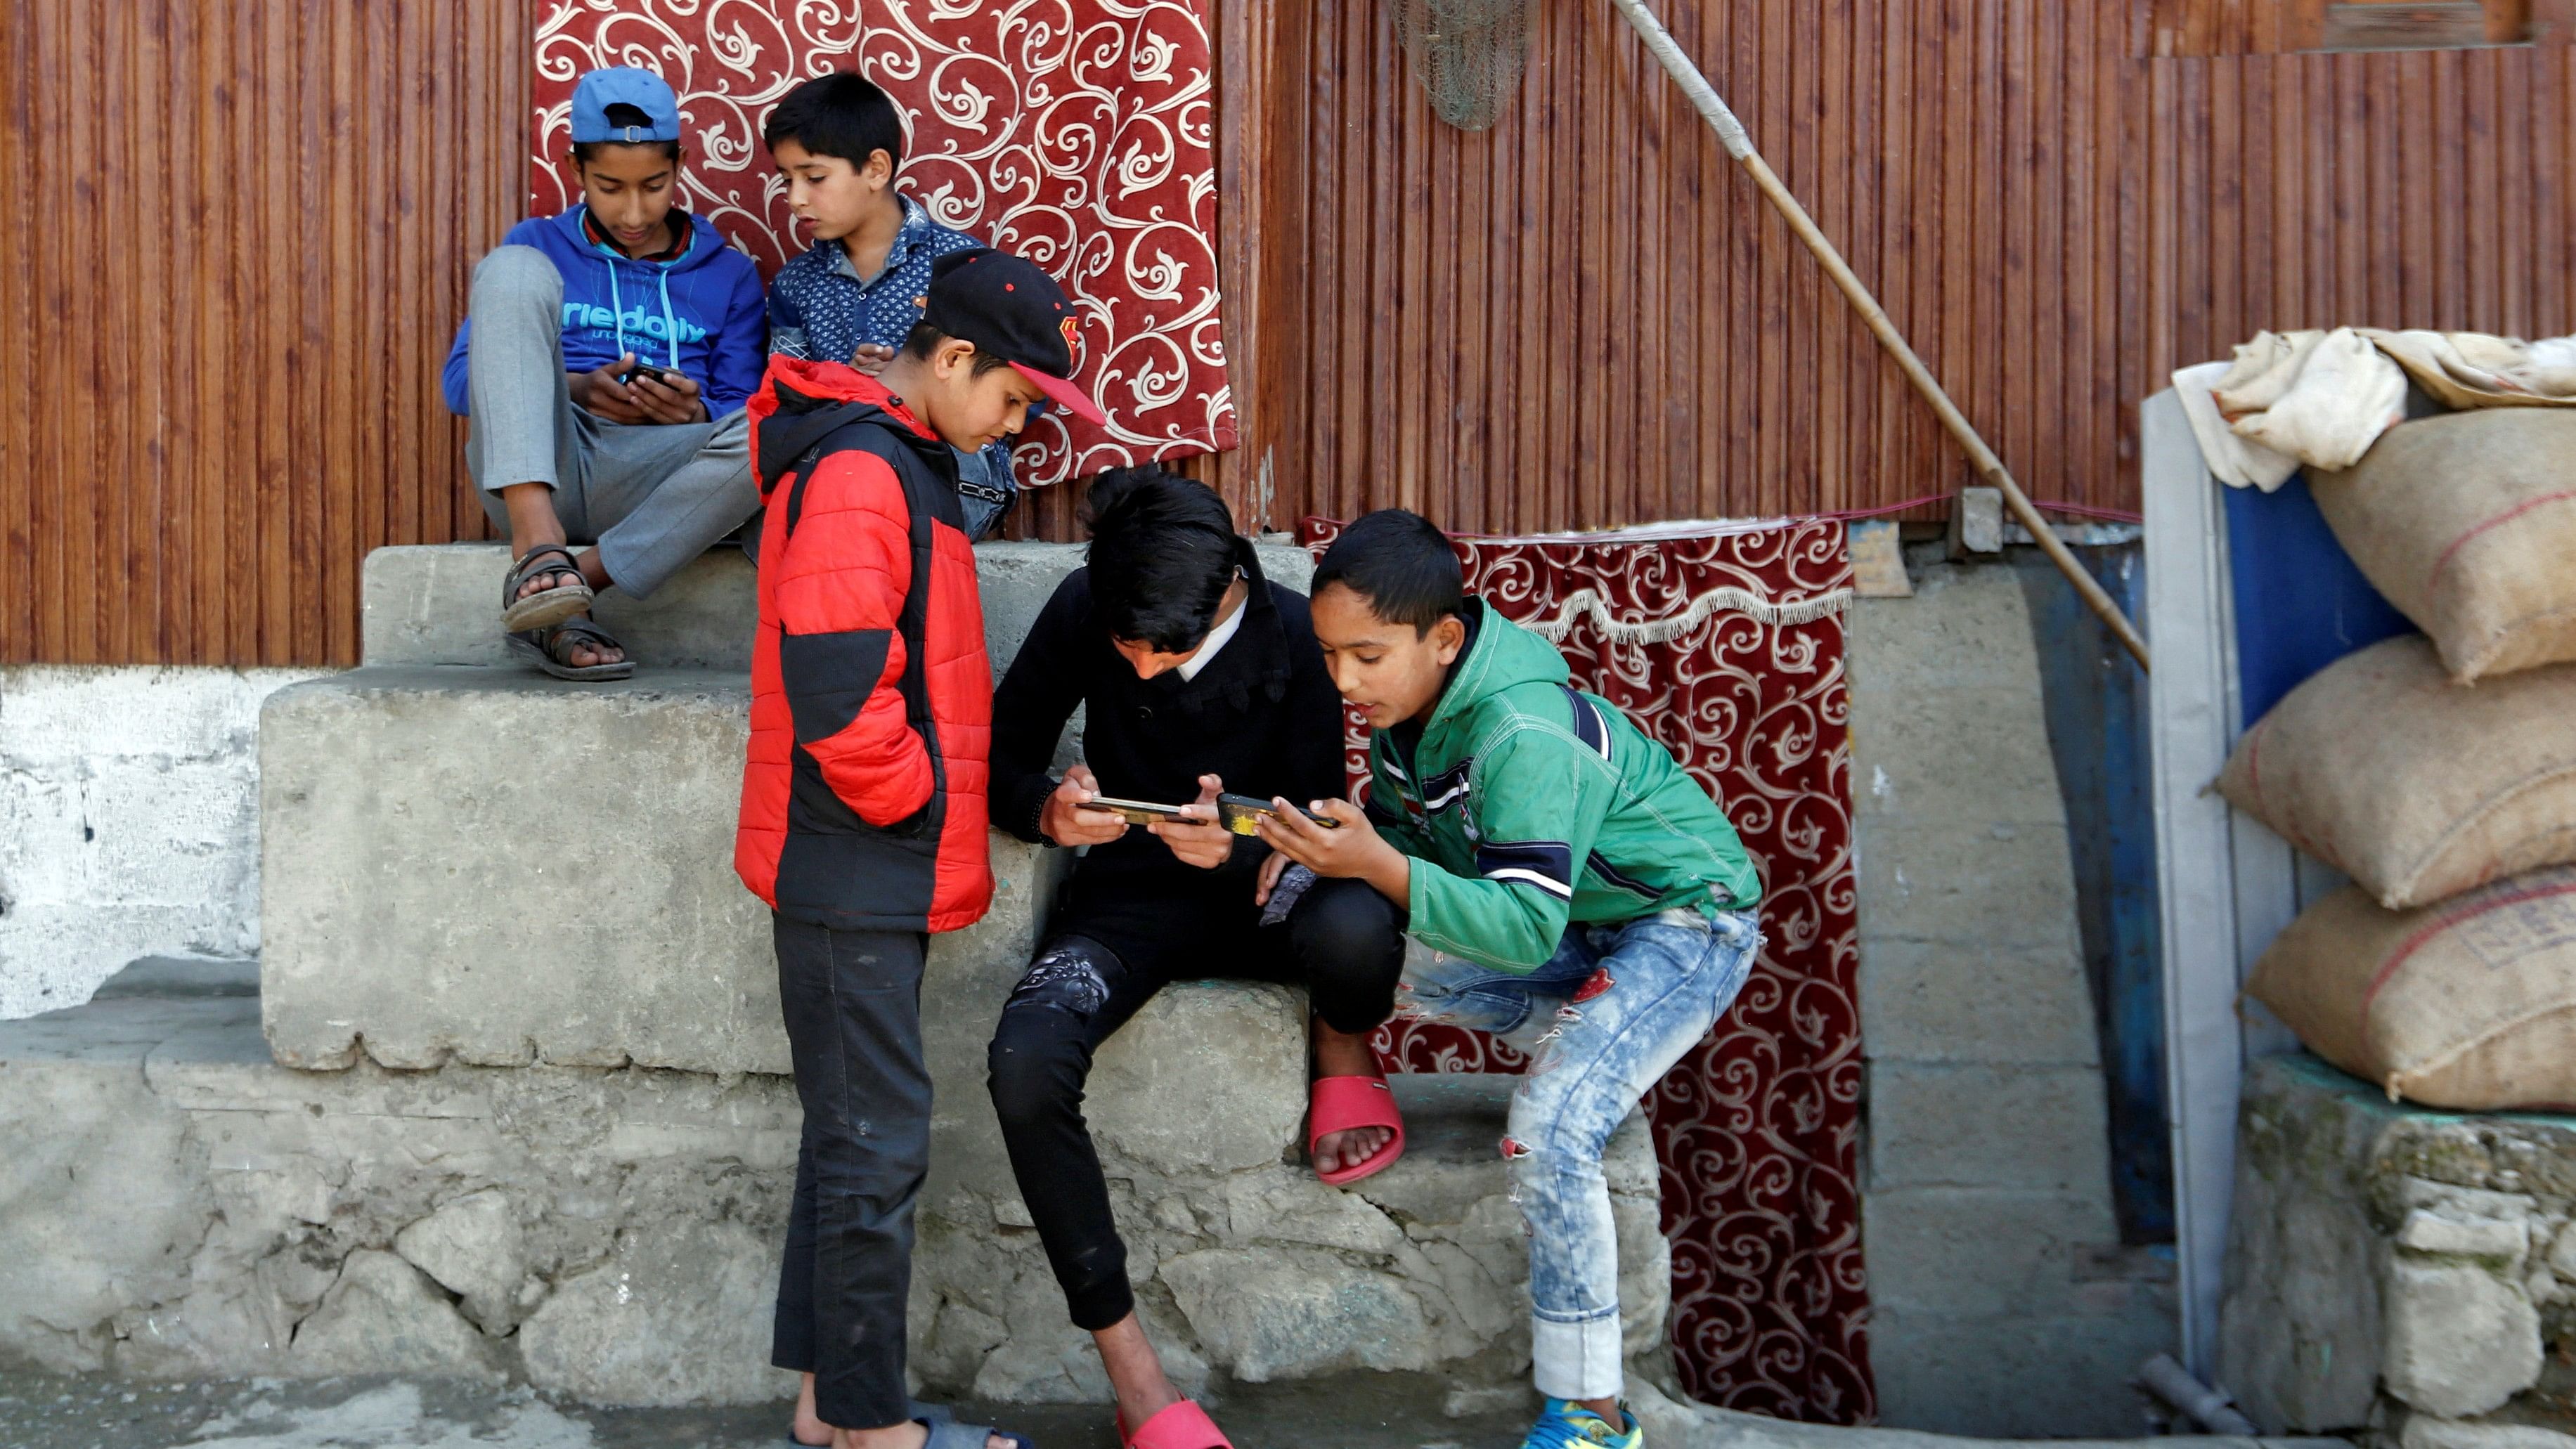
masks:
[[[1077,376],[1108,427],[1041,417],[1020,476],[1234,448],[1216,286],[1216,93],[1195,0],[546,0],[536,214],[580,198],[572,82],[659,72],[688,129],[683,206],[775,273],[804,250],[760,121],[809,75],[858,69],[912,116],[904,188],[1038,263],[1082,309]]]

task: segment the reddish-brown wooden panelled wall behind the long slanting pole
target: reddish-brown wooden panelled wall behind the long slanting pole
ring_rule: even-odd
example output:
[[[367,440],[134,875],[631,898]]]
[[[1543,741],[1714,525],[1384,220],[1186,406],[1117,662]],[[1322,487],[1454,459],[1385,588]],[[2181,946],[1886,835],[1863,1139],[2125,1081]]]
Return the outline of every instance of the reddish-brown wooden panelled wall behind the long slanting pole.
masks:
[[[2148,59],[2154,0],[1656,10],[2032,497],[2133,510],[2138,399],[2259,327],[2576,332],[2566,46]],[[1973,481],[1607,0],[1540,0],[1484,134],[1432,118],[1381,0],[1273,23],[1306,126],[1260,224],[1303,255],[1236,353],[1247,515],[1520,533]]]

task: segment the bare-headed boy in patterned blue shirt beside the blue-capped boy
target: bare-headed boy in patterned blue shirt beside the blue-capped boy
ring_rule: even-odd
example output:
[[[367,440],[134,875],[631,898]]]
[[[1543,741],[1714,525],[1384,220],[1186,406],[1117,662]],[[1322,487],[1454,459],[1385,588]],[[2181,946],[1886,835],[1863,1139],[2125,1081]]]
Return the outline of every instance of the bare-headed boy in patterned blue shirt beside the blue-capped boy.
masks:
[[[814,226],[814,245],[770,283],[770,350],[876,373],[922,319],[930,263],[984,242],[894,190],[904,118],[863,75],[799,85],[770,111],[762,139],[788,180],[788,208]],[[992,533],[1018,492],[1010,443],[958,453],[969,538]]]

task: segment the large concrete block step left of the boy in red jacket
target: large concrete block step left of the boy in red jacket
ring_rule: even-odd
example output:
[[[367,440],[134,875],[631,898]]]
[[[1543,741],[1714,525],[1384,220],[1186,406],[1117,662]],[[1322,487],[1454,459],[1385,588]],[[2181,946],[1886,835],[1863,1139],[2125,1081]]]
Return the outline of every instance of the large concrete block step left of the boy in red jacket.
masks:
[[[768,911],[734,878],[750,682],[368,667],[260,710],[260,991],[286,1066],[786,1071]],[[1041,852],[987,927],[1025,960]]]

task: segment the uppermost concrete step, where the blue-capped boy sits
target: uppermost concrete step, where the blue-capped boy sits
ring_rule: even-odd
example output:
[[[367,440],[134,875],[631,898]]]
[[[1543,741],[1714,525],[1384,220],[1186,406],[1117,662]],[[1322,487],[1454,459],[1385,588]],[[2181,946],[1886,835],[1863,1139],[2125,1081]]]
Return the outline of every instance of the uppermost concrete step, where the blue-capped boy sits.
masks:
[[[1079,543],[979,543],[976,582],[984,595],[984,646],[994,674],[1020,654],[1020,638],[1054,597],[1064,574],[1082,566]],[[1293,543],[1262,543],[1262,571],[1303,592],[1314,556]],[[361,574],[366,664],[507,664],[500,638],[500,582],[510,574],[502,543],[425,543],[376,548]],[[598,620],[652,669],[752,667],[752,620],[760,615],[755,571],[742,548],[719,546],[680,569],[654,597],[611,589]]]

